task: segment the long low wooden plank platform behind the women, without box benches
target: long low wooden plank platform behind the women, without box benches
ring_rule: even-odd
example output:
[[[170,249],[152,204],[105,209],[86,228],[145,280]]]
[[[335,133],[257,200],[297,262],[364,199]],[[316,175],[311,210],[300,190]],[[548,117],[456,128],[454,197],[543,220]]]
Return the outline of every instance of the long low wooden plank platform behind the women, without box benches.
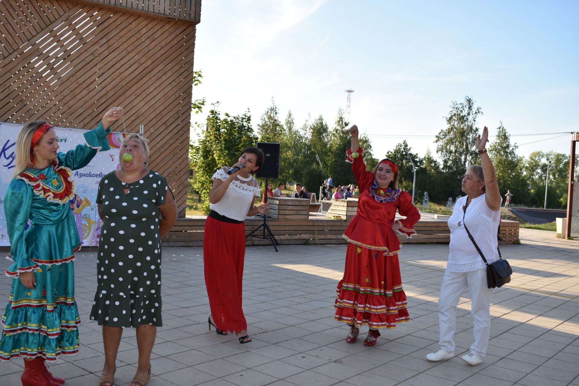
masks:
[[[298,199],[299,200],[299,199]],[[307,202],[307,200],[304,200]],[[347,210],[347,209],[346,209]],[[291,215],[289,215],[291,216]],[[163,238],[164,247],[200,247],[203,245],[203,233],[206,216],[179,218],[168,236]],[[263,218],[247,218],[245,234],[250,233],[263,222]],[[281,244],[346,244],[342,234],[350,223],[350,219],[327,218],[323,213],[312,213],[307,218],[267,219],[267,225],[273,236]],[[412,238],[400,235],[398,238],[406,243],[445,243],[450,242],[450,231],[446,220],[425,219],[415,226],[417,234]],[[261,234],[261,230],[259,230]],[[514,244],[519,242],[519,223],[516,221],[501,221],[499,236],[503,239],[499,244]],[[270,245],[268,240],[248,238],[246,245]]]

